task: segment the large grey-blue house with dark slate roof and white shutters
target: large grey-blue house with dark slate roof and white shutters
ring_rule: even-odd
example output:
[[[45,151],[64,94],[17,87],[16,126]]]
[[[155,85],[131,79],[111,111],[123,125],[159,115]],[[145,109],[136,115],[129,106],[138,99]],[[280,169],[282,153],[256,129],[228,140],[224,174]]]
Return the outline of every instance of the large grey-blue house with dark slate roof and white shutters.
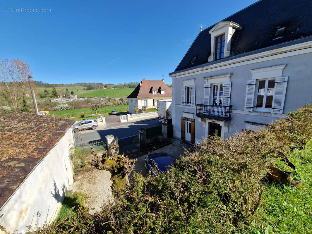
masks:
[[[312,102],[312,2],[261,0],[208,27],[172,77],[174,137],[194,144]]]

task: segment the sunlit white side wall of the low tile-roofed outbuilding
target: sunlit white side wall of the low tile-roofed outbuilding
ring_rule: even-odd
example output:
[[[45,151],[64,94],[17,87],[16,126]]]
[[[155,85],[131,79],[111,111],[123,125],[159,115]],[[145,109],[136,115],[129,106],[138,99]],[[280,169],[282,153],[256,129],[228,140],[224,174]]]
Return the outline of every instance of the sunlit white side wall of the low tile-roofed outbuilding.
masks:
[[[25,233],[27,225],[35,226],[37,212],[39,226],[56,218],[65,192],[73,183],[74,171],[69,160],[73,145],[73,132],[69,129],[8,198],[0,210],[3,214],[0,222],[7,231]]]

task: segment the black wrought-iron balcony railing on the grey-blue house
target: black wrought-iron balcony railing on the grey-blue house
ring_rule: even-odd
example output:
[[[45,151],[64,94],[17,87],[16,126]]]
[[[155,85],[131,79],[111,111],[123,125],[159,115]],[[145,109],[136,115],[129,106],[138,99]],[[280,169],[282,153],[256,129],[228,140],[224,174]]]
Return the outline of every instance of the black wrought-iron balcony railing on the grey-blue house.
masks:
[[[217,119],[217,120],[229,120],[231,119],[232,106],[217,106],[217,105],[196,105],[196,116]]]

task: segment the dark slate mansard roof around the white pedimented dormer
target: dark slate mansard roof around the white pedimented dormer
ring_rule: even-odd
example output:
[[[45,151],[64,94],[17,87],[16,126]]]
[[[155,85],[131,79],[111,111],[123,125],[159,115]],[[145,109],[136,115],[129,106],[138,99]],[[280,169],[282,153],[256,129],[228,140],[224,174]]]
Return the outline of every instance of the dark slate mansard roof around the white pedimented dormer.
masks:
[[[241,31],[236,30],[232,36],[230,57],[241,55],[311,36],[312,1],[261,0],[220,21],[232,21],[241,25]],[[214,26],[212,25],[198,34],[173,73],[208,63],[211,50],[209,31]],[[285,27],[283,37],[273,40],[276,30],[281,27]],[[196,60],[191,65],[194,57]],[[222,62],[230,57],[212,62]]]

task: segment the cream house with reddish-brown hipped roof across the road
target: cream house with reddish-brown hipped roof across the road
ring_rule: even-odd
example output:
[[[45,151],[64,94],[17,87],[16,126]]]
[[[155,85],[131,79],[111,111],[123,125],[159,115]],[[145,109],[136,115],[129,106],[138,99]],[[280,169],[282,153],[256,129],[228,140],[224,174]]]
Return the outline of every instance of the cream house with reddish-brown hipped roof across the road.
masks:
[[[129,112],[135,114],[134,108],[157,109],[157,100],[171,99],[171,88],[165,84],[164,80],[141,80],[139,85],[127,97],[129,101]]]

